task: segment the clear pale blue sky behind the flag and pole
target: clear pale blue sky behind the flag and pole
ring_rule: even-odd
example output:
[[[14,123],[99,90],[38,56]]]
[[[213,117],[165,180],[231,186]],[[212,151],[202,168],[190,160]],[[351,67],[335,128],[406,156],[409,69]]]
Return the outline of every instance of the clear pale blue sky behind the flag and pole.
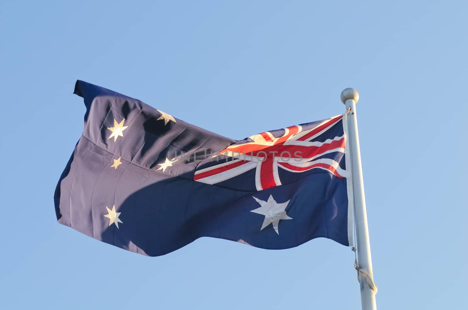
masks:
[[[0,307],[360,309],[348,247],[202,238],[149,258],[56,222],[83,128],[76,79],[233,139],[358,123],[378,309],[467,304],[464,1],[0,4]]]

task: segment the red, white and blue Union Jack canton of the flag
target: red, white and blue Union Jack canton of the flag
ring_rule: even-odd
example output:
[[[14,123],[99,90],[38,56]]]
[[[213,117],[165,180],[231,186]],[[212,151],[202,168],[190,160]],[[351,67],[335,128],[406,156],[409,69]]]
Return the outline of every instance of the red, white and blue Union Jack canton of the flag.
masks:
[[[345,178],[343,115],[254,134],[219,154],[224,156],[222,160],[213,156],[197,168],[195,181],[246,188],[248,177],[242,177],[241,186],[235,178],[255,170],[255,189],[265,190],[323,171]]]

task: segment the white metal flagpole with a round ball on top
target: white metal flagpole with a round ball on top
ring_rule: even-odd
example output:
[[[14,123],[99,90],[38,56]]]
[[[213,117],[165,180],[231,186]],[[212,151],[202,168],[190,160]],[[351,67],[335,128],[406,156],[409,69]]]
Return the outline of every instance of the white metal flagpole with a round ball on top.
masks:
[[[341,101],[346,105],[349,124],[349,145],[351,153],[352,183],[354,197],[354,216],[356,227],[356,247],[358,252],[358,275],[361,288],[362,310],[376,310],[375,293],[377,288],[373,283],[371,246],[369,229],[367,227],[366,199],[364,197],[364,183],[361,168],[361,153],[359,148],[358,120],[356,103],[358,92],[353,88],[346,88],[341,92]],[[367,273],[367,275],[366,275]],[[375,287],[375,289],[373,288]]]

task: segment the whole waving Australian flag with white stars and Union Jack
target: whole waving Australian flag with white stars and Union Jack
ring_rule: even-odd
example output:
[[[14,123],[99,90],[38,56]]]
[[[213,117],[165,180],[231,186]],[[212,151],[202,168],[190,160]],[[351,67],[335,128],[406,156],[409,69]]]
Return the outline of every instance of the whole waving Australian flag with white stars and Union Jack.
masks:
[[[233,140],[77,81],[84,130],[60,176],[60,224],[159,256],[200,237],[265,249],[352,244],[346,114]]]

